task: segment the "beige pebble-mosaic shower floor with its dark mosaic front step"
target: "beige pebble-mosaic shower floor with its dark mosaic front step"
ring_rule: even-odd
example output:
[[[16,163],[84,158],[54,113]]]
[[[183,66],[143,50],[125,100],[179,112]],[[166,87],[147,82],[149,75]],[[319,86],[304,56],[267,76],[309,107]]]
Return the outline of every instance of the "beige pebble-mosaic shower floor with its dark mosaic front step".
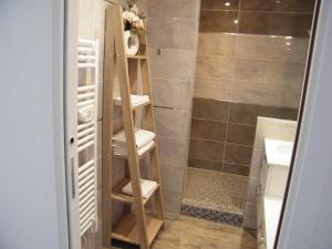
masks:
[[[181,214],[241,226],[248,177],[188,168]]]

